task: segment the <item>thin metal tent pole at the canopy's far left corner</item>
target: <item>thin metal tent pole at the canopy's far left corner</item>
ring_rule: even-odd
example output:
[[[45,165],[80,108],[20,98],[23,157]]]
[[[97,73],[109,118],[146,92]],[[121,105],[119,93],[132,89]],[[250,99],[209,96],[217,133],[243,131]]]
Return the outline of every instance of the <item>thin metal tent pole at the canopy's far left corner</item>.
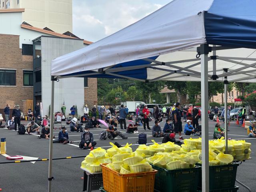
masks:
[[[50,125],[50,139],[49,139],[49,172],[48,172],[48,192],[52,191],[52,144],[53,144],[53,127],[54,127],[54,77],[52,77],[52,100],[51,100],[51,125]]]

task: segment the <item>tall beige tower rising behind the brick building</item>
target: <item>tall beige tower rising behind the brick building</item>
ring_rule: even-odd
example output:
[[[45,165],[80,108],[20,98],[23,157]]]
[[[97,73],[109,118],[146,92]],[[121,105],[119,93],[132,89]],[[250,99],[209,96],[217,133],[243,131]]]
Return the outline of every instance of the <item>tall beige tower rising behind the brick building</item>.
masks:
[[[7,8],[8,3],[8,8],[25,8],[22,22],[61,34],[72,32],[72,0],[0,0],[0,8]]]

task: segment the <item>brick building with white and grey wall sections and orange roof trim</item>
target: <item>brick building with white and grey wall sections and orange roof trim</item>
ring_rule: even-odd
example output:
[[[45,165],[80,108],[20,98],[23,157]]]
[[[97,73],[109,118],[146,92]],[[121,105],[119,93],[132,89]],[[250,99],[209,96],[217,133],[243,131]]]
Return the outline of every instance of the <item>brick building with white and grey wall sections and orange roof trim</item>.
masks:
[[[19,104],[26,114],[36,102],[44,100],[43,115],[48,115],[51,60],[92,42],[77,38],[70,32],[59,34],[48,28],[40,29],[22,23],[22,12],[24,9],[0,10],[0,113],[8,103],[11,109],[14,104]],[[42,46],[36,42],[38,39],[44,40]],[[67,78],[60,80],[56,88],[56,111],[65,102],[67,112],[73,104],[77,104],[78,114],[82,114],[84,103],[97,103],[96,78]],[[76,103],[76,100],[79,102]]]

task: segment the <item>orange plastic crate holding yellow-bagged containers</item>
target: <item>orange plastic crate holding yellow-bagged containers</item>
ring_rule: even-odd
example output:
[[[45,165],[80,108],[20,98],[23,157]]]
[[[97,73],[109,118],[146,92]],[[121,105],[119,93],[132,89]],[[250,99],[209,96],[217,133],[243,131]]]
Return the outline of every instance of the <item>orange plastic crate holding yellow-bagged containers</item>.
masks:
[[[101,164],[104,190],[108,192],[154,192],[157,170],[120,174]]]

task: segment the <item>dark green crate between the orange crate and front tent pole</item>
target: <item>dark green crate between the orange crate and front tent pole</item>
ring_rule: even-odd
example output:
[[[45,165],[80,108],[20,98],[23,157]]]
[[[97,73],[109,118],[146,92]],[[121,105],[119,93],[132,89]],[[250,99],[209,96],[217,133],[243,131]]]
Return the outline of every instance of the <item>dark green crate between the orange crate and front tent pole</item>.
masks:
[[[195,192],[199,172],[202,168],[196,166],[190,169],[165,170],[152,165],[152,168],[158,170],[155,177],[154,190],[158,192]]]

